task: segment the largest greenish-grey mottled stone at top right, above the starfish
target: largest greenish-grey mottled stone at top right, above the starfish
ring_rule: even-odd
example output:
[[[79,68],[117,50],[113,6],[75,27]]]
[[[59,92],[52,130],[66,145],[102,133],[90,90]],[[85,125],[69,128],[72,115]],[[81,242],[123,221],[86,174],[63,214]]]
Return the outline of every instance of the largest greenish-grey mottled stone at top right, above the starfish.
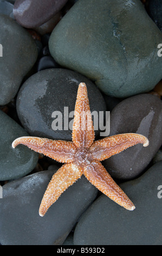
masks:
[[[105,94],[127,97],[160,81],[161,41],[140,0],[81,0],[55,27],[49,50],[60,65],[91,78]]]

